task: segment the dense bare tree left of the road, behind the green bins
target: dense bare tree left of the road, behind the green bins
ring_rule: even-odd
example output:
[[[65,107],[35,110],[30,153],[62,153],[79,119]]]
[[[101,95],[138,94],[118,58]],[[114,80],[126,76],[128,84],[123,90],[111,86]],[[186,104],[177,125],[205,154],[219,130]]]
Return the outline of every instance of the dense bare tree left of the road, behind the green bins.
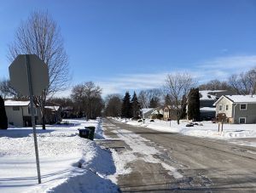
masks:
[[[87,119],[101,116],[104,107],[102,100],[102,88],[94,82],[84,82],[73,87],[71,97],[79,106],[79,111],[84,112]]]

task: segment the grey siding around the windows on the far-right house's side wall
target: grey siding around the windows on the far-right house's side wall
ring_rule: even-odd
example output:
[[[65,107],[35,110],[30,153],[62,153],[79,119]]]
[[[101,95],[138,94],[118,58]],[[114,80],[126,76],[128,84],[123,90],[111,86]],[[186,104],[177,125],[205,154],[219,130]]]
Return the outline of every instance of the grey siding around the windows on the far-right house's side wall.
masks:
[[[256,104],[247,104],[247,110],[240,110],[240,104],[235,104],[234,108],[236,112],[234,123],[239,123],[239,117],[246,117],[247,124],[256,123]]]

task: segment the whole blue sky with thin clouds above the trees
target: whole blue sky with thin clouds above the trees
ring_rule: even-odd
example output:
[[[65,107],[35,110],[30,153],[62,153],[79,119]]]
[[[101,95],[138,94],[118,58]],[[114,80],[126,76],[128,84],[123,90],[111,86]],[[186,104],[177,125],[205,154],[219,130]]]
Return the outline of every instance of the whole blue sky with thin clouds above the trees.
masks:
[[[158,88],[176,71],[201,83],[256,66],[253,0],[9,0],[0,2],[0,78],[32,10],[48,10],[61,27],[72,84],[93,81],[103,94]]]

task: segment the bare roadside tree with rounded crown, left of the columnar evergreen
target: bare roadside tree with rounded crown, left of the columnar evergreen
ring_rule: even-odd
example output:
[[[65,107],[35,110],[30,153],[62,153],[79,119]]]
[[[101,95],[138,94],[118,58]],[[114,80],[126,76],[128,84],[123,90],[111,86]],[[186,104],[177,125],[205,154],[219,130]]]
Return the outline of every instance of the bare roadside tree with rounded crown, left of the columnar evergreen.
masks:
[[[195,86],[195,81],[188,73],[168,74],[164,85],[166,94],[173,100],[173,106],[177,114],[177,124],[181,118],[183,96],[189,94],[190,88]]]

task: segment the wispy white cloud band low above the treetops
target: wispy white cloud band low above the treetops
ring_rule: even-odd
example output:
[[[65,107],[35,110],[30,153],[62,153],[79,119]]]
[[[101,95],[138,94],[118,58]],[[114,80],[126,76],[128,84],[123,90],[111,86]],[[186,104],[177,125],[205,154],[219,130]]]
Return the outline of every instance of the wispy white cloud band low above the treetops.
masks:
[[[140,90],[148,88],[161,88],[166,75],[186,71],[199,83],[212,79],[226,80],[233,73],[247,71],[256,66],[256,55],[230,56],[201,61],[191,65],[191,68],[179,68],[175,71],[163,71],[151,74],[126,74],[108,80],[96,82],[103,88],[103,94],[120,93],[126,90]]]

